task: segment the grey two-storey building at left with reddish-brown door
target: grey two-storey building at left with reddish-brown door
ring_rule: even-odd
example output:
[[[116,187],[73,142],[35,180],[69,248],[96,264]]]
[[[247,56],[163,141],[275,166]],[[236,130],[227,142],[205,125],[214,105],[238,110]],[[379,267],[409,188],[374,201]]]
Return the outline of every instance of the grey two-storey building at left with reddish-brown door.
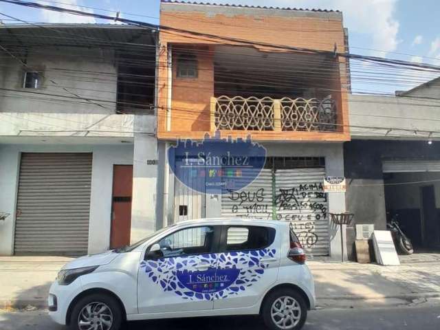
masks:
[[[0,255],[102,252],[157,228],[155,39],[0,26]]]

